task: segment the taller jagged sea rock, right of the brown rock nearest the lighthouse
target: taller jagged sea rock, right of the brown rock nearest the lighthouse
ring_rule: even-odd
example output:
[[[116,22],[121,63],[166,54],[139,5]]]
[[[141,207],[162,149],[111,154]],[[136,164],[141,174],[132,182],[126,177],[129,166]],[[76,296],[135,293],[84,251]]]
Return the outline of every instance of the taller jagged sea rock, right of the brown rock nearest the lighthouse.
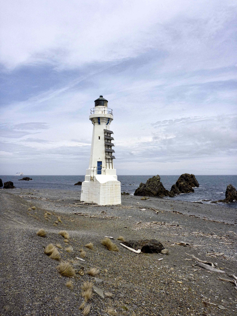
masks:
[[[180,193],[194,192],[194,187],[199,187],[199,183],[197,182],[195,175],[183,173],[176,181],[176,183],[172,185],[169,196],[174,197]]]

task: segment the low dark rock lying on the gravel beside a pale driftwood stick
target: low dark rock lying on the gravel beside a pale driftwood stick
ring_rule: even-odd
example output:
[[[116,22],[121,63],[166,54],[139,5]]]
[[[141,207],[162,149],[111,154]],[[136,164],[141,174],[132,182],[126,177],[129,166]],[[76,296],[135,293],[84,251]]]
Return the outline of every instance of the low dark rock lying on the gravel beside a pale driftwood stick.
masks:
[[[165,249],[161,242],[155,239],[129,240],[124,241],[123,244],[146,253],[161,253],[161,250]]]

